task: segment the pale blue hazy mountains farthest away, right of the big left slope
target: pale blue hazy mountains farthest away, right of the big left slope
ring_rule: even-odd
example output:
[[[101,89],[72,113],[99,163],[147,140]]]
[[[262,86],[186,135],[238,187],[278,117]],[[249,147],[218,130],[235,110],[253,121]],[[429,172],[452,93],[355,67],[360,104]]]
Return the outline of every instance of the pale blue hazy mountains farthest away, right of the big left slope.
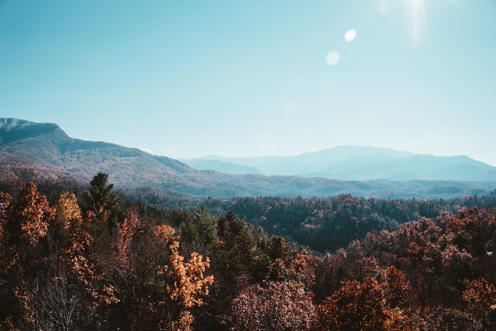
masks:
[[[216,159],[215,156],[209,155],[204,158],[184,160],[193,168],[220,171],[220,168],[216,167],[216,161],[222,164],[252,167],[264,175],[325,177],[348,181],[375,179],[496,181],[496,167],[465,155],[420,155],[371,146],[337,146],[284,157],[217,157]],[[250,171],[253,172],[253,169]]]

